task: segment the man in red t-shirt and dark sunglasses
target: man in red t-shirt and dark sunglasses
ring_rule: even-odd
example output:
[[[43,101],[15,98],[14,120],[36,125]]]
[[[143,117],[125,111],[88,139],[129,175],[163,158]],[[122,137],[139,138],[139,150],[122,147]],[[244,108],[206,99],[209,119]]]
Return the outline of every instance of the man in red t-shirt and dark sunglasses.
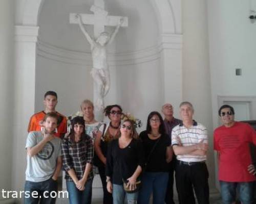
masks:
[[[214,149],[218,152],[223,204],[235,203],[237,191],[243,204],[251,204],[256,180],[248,171],[252,162],[249,143],[256,144],[255,131],[249,124],[235,121],[229,105],[219,109],[219,116],[223,125],[214,131]]]

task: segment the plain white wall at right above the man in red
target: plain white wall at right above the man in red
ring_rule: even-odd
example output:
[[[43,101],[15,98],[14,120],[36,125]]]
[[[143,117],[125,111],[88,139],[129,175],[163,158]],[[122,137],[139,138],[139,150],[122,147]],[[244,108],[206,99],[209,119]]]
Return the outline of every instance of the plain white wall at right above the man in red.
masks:
[[[255,95],[256,22],[250,1],[207,1],[214,127],[218,126],[218,95]],[[236,76],[236,68],[242,75]],[[253,118],[256,119],[256,118]]]

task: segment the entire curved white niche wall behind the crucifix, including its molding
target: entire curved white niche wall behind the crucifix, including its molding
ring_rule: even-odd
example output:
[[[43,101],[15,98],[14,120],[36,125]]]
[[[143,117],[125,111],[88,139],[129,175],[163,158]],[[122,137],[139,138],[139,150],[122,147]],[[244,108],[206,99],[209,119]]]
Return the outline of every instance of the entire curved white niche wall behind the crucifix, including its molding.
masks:
[[[35,111],[43,108],[42,97],[47,90],[57,91],[57,110],[66,115],[76,112],[84,98],[93,100],[90,45],[78,25],[69,24],[70,12],[92,13],[90,3],[93,2],[78,1],[74,4],[46,0],[42,6],[38,19]],[[129,18],[129,27],[120,28],[114,43],[108,47],[111,90],[105,97],[105,104],[121,104],[127,107],[126,111],[144,117],[148,108],[158,109],[163,98],[159,80],[159,26],[154,9],[148,1],[135,0],[107,1],[105,9],[110,15]],[[92,27],[87,28],[92,32]],[[154,77],[156,80],[151,83]],[[127,90],[128,87],[131,91]],[[148,89],[151,89],[150,93]],[[148,103],[151,97],[157,103]],[[134,101],[134,104],[127,101]],[[152,106],[148,107],[150,104]]]

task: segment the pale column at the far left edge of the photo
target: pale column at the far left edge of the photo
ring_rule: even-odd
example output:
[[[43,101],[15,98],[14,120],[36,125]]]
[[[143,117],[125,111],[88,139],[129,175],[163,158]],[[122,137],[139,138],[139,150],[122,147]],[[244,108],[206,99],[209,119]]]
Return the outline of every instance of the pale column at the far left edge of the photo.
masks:
[[[13,38],[14,1],[0,1],[0,203],[5,202],[2,189],[11,190],[12,127],[13,127]]]

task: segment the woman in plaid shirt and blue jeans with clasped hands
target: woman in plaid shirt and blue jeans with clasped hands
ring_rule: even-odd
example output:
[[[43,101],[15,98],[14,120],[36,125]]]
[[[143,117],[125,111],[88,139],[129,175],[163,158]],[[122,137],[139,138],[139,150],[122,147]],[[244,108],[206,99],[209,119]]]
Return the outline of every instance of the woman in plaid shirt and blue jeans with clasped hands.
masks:
[[[93,142],[84,132],[84,120],[77,116],[71,120],[70,134],[61,142],[63,168],[69,192],[70,203],[92,201],[92,160]]]

